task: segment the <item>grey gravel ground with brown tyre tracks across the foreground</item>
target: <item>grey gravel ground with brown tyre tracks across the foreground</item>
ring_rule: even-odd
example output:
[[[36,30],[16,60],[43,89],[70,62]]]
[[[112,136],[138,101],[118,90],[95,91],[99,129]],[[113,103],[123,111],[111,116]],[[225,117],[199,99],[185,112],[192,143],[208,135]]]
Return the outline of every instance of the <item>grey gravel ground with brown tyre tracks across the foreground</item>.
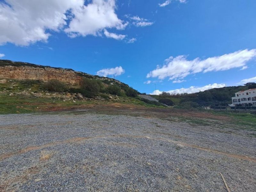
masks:
[[[0,116],[0,191],[256,191],[255,132],[99,114]]]

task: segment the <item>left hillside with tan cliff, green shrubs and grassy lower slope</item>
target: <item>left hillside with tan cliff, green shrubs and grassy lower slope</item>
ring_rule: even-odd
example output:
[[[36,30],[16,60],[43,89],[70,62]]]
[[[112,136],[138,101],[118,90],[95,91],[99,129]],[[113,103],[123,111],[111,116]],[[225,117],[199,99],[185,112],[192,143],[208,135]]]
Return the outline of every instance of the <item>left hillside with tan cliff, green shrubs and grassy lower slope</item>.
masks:
[[[123,103],[164,107],[118,80],[73,69],[0,60],[0,114]]]

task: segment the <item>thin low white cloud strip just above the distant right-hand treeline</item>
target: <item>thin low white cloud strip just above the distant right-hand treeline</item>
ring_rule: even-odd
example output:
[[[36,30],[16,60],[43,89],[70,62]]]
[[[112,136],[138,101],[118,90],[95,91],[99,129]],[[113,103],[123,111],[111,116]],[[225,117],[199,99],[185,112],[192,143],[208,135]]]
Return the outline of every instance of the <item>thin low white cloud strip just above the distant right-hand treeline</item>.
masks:
[[[214,84],[205,85],[203,87],[191,86],[189,88],[184,88],[184,92],[185,93],[196,93],[196,92],[206,91],[208,89],[220,88],[220,87],[225,87],[225,84],[214,83]],[[157,93],[157,95],[159,95],[162,92],[163,91],[156,90],[156,91],[150,93],[150,95],[155,95],[156,93]],[[183,88],[170,90],[170,91],[164,91],[164,92],[171,93],[171,94],[173,94],[173,93],[183,93]]]

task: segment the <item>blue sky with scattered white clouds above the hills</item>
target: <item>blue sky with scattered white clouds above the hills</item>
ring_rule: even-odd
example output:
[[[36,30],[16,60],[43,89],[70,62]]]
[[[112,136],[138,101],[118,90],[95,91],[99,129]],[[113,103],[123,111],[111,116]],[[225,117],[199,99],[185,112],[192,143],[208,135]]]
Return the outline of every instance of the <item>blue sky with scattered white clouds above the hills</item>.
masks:
[[[0,0],[0,57],[146,93],[238,85],[256,81],[255,10],[254,0]]]

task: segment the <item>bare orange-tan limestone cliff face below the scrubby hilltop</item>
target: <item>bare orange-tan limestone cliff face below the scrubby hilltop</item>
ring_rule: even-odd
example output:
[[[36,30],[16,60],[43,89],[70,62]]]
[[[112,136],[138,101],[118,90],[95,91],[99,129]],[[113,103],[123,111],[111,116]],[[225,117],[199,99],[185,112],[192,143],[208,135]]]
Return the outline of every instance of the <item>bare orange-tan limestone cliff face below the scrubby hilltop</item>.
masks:
[[[9,79],[35,79],[48,81],[51,79],[57,79],[62,82],[70,84],[78,84],[82,79],[78,72],[68,69],[56,69],[56,68],[39,68],[29,66],[0,66],[0,78]]]

